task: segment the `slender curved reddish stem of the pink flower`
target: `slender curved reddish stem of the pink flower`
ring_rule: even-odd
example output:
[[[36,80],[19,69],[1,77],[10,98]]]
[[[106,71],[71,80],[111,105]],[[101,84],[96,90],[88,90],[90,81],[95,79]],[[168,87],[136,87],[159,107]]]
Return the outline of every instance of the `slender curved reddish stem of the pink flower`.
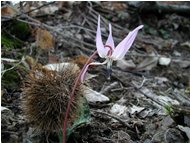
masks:
[[[70,111],[70,107],[71,107],[71,103],[74,99],[74,95],[75,95],[75,90],[78,86],[78,84],[80,83],[80,77],[83,74],[86,66],[89,64],[89,62],[94,58],[94,56],[97,54],[97,50],[93,52],[93,54],[88,58],[86,64],[83,66],[82,70],[80,71],[79,75],[77,76],[77,78],[75,79],[74,82],[74,86],[72,88],[72,92],[70,94],[70,100],[68,101],[67,104],[67,110],[65,112],[65,120],[64,120],[64,125],[63,125],[63,137],[62,137],[62,142],[66,143],[66,130],[67,130],[67,120],[68,120],[68,116],[69,116],[69,111]]]

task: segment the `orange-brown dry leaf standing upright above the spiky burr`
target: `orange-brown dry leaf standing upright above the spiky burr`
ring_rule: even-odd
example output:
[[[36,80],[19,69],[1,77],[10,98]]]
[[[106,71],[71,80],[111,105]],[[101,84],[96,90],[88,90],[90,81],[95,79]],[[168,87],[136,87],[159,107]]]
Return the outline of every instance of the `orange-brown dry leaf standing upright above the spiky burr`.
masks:
[[[54,39],[47,30],[38,28],[36,31],[36,45],[42,49],[50,49],[54,47]]]

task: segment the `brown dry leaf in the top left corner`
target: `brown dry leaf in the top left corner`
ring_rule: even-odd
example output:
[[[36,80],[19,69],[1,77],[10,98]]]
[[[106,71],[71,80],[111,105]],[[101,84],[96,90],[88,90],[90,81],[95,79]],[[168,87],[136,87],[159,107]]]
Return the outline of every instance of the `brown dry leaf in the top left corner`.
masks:
[[[1,8],[1,16],[15,16],[16,14],[16,9],[11,7],[10,5],[6,5]]]

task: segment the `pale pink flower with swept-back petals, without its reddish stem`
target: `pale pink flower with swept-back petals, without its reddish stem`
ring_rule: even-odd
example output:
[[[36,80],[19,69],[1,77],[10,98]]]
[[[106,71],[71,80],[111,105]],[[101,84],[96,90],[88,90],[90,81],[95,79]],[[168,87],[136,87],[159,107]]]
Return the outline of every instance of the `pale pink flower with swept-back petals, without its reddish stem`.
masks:
[[[140,29],[143,28],[143,25],[138,26],[133,31],[129,32],[129,34],[123,39],[116,47],[114,45],[113,37],[112,37],[112,28],[111,24],[109,24],[109,36],[104,45],[102,42],[101,30],[100,30],[100,15],[98,16],[98,27],[96,32],[96,48],[98,51],[98,55],[101,58],[105,58],[106,60],[103,63],[90,63],[84,69],[83,74],[81,75],[81,81],[84,80],[84,75],[89,67],[89,65],[103,65],[107,64],[107,69],[110,70],[112,66],[112,62],[116,60],[121,60],[124,58],[125,54],[133,44],[137,33]]]

